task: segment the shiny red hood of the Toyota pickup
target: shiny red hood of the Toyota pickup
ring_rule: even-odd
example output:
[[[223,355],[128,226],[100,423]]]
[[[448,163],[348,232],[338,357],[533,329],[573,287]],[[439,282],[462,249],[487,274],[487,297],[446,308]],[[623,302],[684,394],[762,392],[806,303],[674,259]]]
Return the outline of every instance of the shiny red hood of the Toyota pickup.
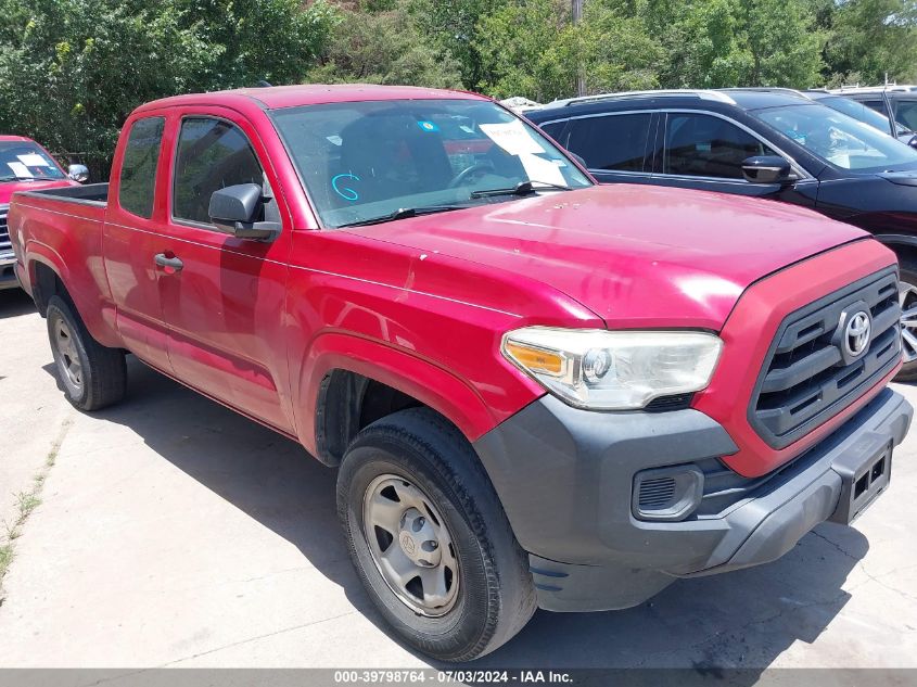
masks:
[[[442,254],[536,279],[609,327],[711,330],[722,328],[753,282],[868,236],[773,201],[636,185],[346,231],[417,250],[430,258],[426,269]]]

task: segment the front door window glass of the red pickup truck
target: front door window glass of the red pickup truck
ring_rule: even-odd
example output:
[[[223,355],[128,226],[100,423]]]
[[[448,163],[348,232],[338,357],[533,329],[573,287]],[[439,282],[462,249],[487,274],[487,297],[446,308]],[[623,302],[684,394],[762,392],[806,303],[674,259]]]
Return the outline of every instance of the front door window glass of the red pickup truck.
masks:
[[[211,117],[183,119],[175,160],[173,217],[211,224],[211,196],[240,183],[263,186],[264,173],[239,127]]]

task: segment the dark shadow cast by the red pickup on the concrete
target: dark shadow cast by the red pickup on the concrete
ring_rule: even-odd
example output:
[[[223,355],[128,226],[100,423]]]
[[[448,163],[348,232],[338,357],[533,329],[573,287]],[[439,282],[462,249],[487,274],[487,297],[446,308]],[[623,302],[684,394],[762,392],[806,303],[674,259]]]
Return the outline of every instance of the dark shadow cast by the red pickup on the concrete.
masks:
[[[54,374],[53,366],[44,369]],[[128,399],[95,417],[130,428],[164,459],[294,544],[387,634],[339,534],[335,471],[132,358],[130,376]],[[828,626],[850,598],[841,585],[867,550],[855,530],[822,525],[775,563],[678,581],[634,609],[539,611],[515,639],[473,666],[688,667],[714,677],[743,667],[751,670],[730,673],[728,682],[753,684],[788,647],[813,643]]]

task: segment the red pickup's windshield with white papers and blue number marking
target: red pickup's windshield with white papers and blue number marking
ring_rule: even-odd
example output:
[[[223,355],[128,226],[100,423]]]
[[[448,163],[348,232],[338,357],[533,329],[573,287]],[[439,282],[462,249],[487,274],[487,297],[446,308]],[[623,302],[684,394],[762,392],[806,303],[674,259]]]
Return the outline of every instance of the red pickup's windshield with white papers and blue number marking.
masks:
[[[534,128],[486,101],[345,102],[270,114],[326,227],[591,185]],[[507,193],[482,193],[499,190]]]

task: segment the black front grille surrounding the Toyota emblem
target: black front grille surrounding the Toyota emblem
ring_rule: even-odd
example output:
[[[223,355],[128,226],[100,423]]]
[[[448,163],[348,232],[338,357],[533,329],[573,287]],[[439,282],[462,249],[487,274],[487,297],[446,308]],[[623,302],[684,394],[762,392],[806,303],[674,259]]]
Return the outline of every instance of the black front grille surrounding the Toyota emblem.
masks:
[[[871,319],[869,343],[844,349],[846,323]],[[749,422],[774,448],[785,448],[835,417],[901,357],[897,276],[883,270],[790,314],[777,330],[752,393]]]

